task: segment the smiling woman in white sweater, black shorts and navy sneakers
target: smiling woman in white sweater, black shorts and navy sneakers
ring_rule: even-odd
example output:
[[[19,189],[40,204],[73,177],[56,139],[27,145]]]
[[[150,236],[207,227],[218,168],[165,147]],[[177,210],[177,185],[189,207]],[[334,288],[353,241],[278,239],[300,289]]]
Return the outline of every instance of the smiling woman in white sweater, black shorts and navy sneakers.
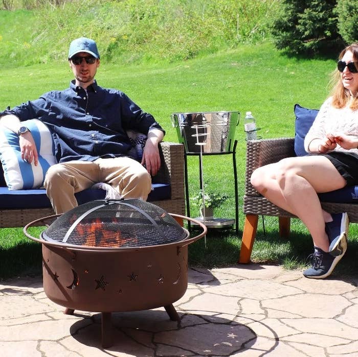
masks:
[[[275,205],[306,225],[314,243],[308,278],[330,275],[347,249],[347,213],[322,209],[318,193],[358,185],[358,43],[339,56],[332,95],[305,137],[307,156],[291,157],[254,171],[251,183]]]

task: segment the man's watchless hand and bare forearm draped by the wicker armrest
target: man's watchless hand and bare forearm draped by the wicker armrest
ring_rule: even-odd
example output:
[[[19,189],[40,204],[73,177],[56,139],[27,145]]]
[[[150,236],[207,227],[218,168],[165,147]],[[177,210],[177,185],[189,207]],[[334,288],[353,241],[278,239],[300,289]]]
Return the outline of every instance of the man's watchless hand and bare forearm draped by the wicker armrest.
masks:
[[[147,141],[143,149],[142,165],[145,165],[147,171],[152,176],[158,173],[161,167],[161,158],[159,155],[158,144],[163,139],[163,132],[159,129],[149,130]]]

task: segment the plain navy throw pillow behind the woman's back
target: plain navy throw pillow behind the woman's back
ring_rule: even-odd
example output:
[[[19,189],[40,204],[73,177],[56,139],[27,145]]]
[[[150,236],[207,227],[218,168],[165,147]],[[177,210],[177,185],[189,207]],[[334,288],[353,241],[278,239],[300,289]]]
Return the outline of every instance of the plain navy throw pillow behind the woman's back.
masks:
[[[304,150],[304,138],[312,126],[318,111],[318,109],[307,109],[299,104],[295,104],[295,153],[297,156],[307,155],[307,152]]]

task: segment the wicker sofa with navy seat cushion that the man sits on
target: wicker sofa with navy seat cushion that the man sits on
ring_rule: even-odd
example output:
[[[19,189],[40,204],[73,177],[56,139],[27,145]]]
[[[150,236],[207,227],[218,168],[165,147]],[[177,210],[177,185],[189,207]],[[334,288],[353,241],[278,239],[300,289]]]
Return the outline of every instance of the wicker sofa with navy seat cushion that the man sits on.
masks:
[[[153,190],[148,201],[170,213],[185,215],[184,146],[163,141],[160,144],[162,166],[152,178]],[[79,204],[103,199],[102,189],[88,189],[76,197]],[[6,186],[0,164],[0,228],[23,227],[41,217],[54,215],[44,189],[20,189],[10,191]]]

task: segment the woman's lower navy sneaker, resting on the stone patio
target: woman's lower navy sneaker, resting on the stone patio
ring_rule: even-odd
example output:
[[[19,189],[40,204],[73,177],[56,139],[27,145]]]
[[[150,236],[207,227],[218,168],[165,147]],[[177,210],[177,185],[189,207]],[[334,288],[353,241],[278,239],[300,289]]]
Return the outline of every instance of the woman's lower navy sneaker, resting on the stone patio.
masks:
[[[306,278],[323,279],[329,276],[337,263],[341,260],[343,254],[332,256],[324,252],[322,249],[315,247],[313,254],[308,256],[311,267],[303,272]]]

